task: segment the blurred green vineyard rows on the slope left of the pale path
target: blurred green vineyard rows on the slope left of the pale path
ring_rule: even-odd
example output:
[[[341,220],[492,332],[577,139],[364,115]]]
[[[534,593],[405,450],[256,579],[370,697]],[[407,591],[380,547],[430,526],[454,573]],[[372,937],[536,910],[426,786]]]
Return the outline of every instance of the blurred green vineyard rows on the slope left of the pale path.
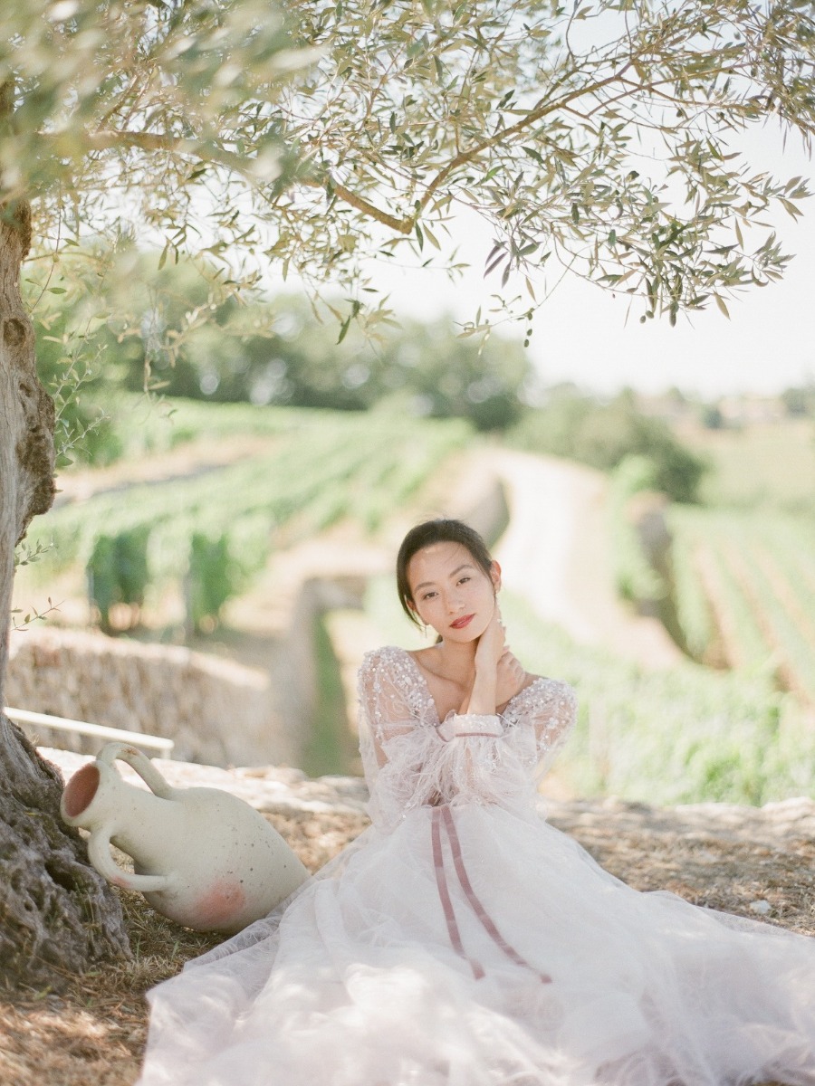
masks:
[[[176,583],[188,627],[201,629],[273,546],[343,517],[375,531],[471,438],[459,420],[297,414],[300,425],[277,428],[266,453],[65,504],[36,522],[29,545],[50,548],[46,572],[85,568],[103,628],[114,605],[136,621],[148,588]]]

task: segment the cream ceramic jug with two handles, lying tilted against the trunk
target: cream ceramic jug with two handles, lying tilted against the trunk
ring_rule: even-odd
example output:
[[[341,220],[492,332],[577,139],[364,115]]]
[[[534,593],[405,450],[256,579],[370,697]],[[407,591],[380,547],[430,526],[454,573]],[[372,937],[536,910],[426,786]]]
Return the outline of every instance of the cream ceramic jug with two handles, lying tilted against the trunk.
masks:
[[[127,762],[150,791],[128,784]],[[174,788],[140,750],[109,743],[65,786],[68,825],[90,831],[88,855],[115,886],[141,892],[156,912],[197,931],[239,932],[265,917],[309,875],[279,833],[220,788]],[[114,844],[135,874],[114,861]]]

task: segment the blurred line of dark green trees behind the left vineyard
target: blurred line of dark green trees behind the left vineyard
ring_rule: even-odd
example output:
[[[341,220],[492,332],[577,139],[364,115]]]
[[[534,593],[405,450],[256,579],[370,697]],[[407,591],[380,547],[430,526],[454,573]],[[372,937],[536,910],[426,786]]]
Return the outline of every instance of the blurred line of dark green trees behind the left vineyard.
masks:
[[[481,430],[516,421],[532,383],[517,340],[462,338],[440,317],[381,327],[376,339],[354,327],[337,343],[325,303],[292,293],[216,300],[216,269],[188,257],[158,269],[155,253],[125,250],[89,305],[95,263],[92,253],[64,256],[60,282],[68,287],[57,295],[39,276],[26,283],[40,376],[59,389],[82,380],[82,396],[65,399],[61,414],[65,438],[95,463],[118,454],[102,409],[115,411],[116,390],[139,392],[146,380],[164,395],[216,403],[365,411],[398,395],[417,415],[468,418]]]

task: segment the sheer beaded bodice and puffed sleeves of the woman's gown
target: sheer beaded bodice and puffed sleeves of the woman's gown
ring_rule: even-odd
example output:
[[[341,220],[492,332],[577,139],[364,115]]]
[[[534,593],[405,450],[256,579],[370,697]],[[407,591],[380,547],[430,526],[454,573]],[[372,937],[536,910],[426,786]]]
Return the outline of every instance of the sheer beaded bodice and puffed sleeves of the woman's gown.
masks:
[[[383,829],[427,805],[532,810],[536,784],[575,721],[574,690],[555,679],[536,679],[500,715],[440,721],[418,665],[392,645],[366,655],[359,685],[371,816]]]

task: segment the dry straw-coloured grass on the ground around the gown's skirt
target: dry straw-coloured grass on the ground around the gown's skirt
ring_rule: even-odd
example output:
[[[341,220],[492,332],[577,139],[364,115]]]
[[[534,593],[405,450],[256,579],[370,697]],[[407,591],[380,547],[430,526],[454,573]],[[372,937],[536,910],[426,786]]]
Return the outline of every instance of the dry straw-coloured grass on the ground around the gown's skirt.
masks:
[[[272,817],[303,862],[316,870],[365,825],[362,816]],[[577,824],[579,822],[579,824]],[[567,828],[610,871],[639,889],[670,889],[697,905],[769,920],[815,934],[815,844],[783,848],[654,833],[628,817],[576,820]],[[148,988],[176,973],[217,939],[159,917],[138,894],[123,894],[135,961],[72,978],[59,995],[0,996],[3,1086],[131,1086],[147,1036]]]

